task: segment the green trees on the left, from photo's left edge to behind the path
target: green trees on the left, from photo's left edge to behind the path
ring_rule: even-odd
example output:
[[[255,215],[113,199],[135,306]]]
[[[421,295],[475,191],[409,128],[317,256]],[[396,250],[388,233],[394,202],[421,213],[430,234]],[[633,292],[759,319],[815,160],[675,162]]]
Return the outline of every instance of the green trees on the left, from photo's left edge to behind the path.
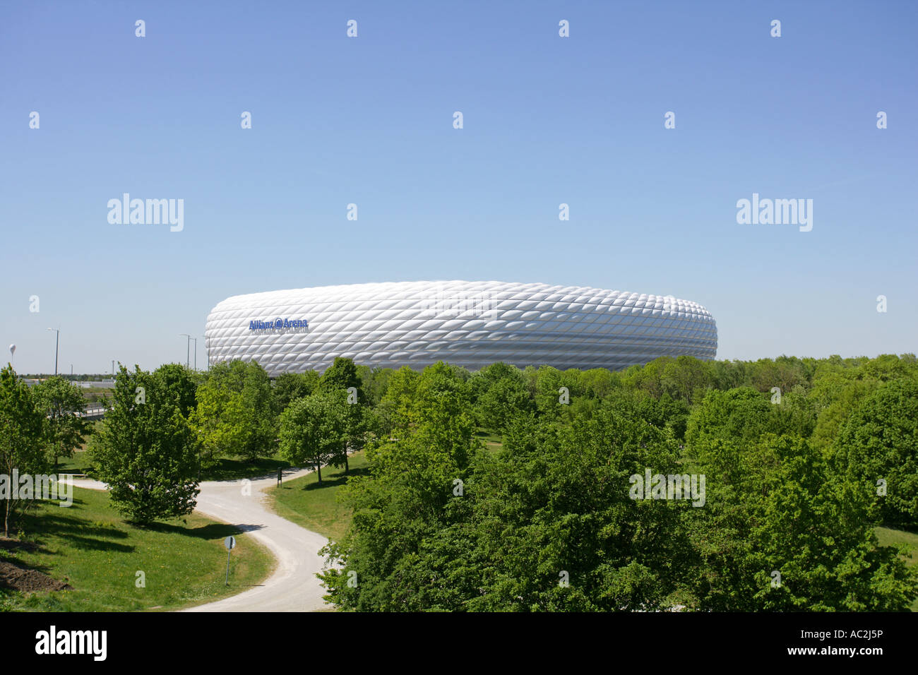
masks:
[[[256,363],[233,361],[206,373],[167,364],[149,372],[121,366],[103,422],[79,413],[83,388],[65,377],[28,385],[6,366],[0,377],[0,506],[4,534],[17,532],[39,495],[14,476],[50,476],[88,445],[87,473],[108,484],[112,505],[139,524],[185,515],[197,485],[226,458],[280,455],[297,466],[348,465],[363,447],[371,410],[353,362],[269,379]],[[94,433],[95,432],[95,433]]]

